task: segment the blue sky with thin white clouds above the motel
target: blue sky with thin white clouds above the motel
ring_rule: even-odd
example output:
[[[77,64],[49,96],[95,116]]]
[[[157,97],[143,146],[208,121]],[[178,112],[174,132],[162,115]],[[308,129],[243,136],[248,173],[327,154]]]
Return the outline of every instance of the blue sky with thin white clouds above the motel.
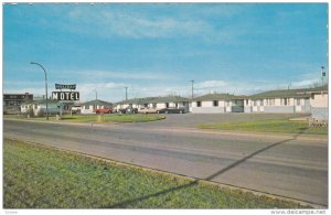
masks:
[[[83,101],[311,86],[327,3],[3,4],[3,93],[77,84]]]

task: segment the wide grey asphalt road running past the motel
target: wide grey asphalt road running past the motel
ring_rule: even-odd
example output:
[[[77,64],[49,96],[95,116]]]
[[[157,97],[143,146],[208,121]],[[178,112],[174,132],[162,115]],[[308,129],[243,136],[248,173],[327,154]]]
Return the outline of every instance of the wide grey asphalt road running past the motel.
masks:
[[[328,205],[327,139],[175,127],[164,122],[74,126],[4,120],[3,135]]]

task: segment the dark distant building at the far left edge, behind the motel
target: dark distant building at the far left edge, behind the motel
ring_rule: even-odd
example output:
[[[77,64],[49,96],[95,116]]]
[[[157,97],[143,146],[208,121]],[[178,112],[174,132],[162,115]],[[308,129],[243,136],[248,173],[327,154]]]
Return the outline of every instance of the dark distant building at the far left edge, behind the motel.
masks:
[[[33,100],[33,94],[3,94],[3,114],[20,114],[23,103]]]

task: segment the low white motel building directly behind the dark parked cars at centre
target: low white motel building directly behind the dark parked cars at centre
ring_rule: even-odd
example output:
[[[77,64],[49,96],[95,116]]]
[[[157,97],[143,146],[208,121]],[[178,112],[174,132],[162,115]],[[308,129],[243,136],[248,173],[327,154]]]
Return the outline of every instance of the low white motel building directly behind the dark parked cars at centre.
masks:
[[[146,97],[122,100],[116,104],[116,109],[137,108],[160,110],[163,108],[184,108],[189,111],[190,99],[181,96]]]

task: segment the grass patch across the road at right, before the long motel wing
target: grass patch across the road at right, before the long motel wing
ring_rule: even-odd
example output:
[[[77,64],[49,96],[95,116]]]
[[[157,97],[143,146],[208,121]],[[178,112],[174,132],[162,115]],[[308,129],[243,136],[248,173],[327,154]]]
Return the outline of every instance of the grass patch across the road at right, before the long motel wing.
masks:
[[[261,120],[233,123],[200,125],[202,129],[241,130],[256,132],[328,135],[328,128],[309,128],[308,121]]]

